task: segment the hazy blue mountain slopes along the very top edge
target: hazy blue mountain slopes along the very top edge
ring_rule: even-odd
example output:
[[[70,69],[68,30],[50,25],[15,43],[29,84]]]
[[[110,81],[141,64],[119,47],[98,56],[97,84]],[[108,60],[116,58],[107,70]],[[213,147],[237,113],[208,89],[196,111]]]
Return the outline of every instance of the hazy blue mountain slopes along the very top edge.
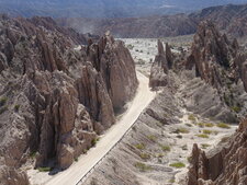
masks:
[[[0,0],[0,12],[22,16],[131,18],[186,13],[247,0]]]

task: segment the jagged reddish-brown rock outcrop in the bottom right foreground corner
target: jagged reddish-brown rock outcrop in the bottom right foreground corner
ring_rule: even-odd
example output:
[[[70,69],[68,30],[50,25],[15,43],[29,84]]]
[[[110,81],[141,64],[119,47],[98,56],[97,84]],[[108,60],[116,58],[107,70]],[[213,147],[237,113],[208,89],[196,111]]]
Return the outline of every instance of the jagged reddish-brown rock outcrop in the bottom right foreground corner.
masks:
[[[247,120],[243,120],[234,136],[205,154],[195,144],[191,157],[188,185],[222,185],[247,183],[246,176],[246,131]]]

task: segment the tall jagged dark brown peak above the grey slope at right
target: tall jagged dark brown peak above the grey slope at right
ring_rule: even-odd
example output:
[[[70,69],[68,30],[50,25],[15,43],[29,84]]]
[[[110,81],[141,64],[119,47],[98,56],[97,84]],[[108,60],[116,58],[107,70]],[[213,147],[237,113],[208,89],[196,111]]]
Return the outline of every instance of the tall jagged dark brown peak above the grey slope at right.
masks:
[[[235,50],[225,35],[221,35],[214,24],[202,22],[194,36],[188,58],[187,68],[195,66],[197,76],[215,86],[221,86],[225,78],[232,78],[233,73],[223,76],[222,71],[233,71]],[[234,72],[234,71],[233,71]]]

